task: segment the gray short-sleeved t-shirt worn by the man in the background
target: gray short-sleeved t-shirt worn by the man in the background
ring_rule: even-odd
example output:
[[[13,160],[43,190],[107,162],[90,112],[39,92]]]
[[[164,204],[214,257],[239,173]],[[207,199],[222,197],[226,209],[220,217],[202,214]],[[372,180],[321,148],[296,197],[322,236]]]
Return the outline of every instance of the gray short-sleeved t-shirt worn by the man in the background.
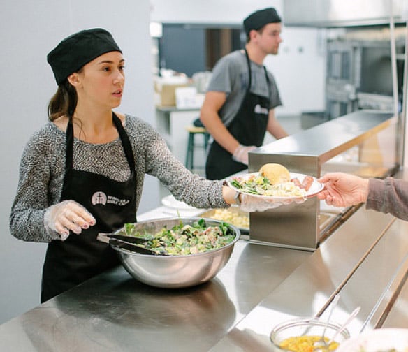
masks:
[[[268,89],[264,66],[258,65],[254,61],[250,61],[250,64],[252,73],[251,92],[258,96],[268,97],[268,91],[270,91],[270,109],[282,105],[272,73],[267,71],[270,85],[270,89]],[[240,109],[247,91],[248,79],[248,65],[244,50],[227,54],[219,59],[214,66],[207,91],[223,91],[226,93],[226,102],[219,110],[219,117],[226,126],[231,124]]]

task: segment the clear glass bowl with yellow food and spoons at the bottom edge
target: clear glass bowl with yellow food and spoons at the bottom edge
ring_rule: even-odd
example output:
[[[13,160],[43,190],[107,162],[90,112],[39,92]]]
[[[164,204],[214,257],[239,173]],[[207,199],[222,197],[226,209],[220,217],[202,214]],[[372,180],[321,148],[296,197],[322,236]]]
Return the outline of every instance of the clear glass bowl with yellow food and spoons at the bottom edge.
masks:
[[[323,335],[324,329],[326,328],[326,324],[327,321],[321,320],[319,318],[295,318],[276,325],[275,328],[272,329],[272,332],[270,332],[270,340],[272,341],[274,351],[311,351],[305,346],[307,345],[307,342],[305,342],[304,340],[309,339],[309,337],[316,337],[317,339],[320,339],[321,335]],[[331,339],[340,328],[341,324],[330,321],[327,325],[324,336],[328,339]],[[286,339],[289,339],[289,337],[302,337],[303,347],[298,346],[292,347],[291,349],[281,347],[282,342]],[[337,344],[341,344],[345,340],[349,339],[349,337],[349,331],[347,329],[344,329],[335,337],[335,342],[337,342]],[[296,340],[300,345],[300,339]],[[330,346],[330,349],[328,349],[328,351],[335,351],[336,349],[337,346]]]

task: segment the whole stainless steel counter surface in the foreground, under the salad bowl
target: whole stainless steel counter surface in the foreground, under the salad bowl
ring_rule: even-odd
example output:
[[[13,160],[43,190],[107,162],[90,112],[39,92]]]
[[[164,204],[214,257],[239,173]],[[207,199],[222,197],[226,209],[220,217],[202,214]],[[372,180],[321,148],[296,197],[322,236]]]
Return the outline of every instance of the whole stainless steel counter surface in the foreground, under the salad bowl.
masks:
[[[360,207],[314,252],[240,240],[195,288],[152,288],[117,267],[0,325],[1,349],[270,351],[275,324],[324,316],[337,292],[338,321],[362,306],[352,335],[407,327],[407,233],[408,223]]]

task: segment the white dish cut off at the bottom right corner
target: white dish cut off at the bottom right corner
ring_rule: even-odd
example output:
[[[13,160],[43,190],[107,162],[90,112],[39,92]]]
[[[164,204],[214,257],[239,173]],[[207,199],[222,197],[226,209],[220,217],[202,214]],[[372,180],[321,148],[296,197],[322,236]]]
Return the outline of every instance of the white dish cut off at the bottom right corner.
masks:
[[[351,337],[336,352],[408,352],[408,329],[374,329]]]

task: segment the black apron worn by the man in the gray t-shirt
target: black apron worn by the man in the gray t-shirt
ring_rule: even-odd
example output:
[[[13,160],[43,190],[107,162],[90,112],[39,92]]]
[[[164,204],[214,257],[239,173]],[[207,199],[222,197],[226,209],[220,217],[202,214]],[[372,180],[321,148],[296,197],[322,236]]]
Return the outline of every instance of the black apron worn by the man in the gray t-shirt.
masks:
[[[247,58],[249,74],[248,87],[240,109],[227,129],[241,145],[261,147],[268,126],[270,92],[268,98],[251,93],[251,64],[247,50],[245,50],[245,57]],[[268,90],[270,91],[268,73],[265,67],[264,70]],[[212,142],[205,163],[205,176],[207,179],[224,179],[229,175],[245,170],[247,167],[243,163],[234,161],[232,154],[215,140]]]

